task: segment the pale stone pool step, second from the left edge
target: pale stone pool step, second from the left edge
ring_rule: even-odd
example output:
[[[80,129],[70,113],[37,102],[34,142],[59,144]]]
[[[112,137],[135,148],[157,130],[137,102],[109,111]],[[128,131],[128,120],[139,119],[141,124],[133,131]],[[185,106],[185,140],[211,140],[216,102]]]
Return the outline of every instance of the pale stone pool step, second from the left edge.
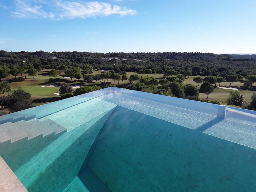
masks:
[[[24,134],[21,129],[19,129],[11,122],[3,123],[2,125],[0,125],[0,131],[5,133],[5,135],[9,137],[11,139],[11,142],[27,138],[27,135]],[[0,135],[0,138],[2,138],[2,135]]]

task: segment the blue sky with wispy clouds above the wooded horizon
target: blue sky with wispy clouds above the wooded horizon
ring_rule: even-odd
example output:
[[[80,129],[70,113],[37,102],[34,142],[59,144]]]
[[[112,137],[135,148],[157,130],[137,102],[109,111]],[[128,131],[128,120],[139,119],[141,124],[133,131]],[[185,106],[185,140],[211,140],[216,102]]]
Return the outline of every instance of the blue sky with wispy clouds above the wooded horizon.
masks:
[[[0,50],[256,54],[255,0],[0,0]]]

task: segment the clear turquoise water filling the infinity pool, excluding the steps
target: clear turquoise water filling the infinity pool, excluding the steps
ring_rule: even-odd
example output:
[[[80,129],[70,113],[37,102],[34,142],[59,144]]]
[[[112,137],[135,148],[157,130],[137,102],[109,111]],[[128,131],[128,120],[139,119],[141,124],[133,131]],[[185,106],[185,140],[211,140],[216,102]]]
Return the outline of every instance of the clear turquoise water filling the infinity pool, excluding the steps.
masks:
[[[40,111],[26,121],[66,131],[0,143],[0,155],[29,192],[256,189],[253,112],[242,114],[245,123],[219,118],[216,105],[193,110],[134,96],[100,94]]]

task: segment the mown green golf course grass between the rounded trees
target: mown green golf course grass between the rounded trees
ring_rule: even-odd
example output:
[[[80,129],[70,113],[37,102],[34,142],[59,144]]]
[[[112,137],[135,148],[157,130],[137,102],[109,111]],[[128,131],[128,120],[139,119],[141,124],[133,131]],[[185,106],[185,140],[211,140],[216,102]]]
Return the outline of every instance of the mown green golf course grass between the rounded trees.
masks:
[[[32,96],[31,99],[35,101],[35,103],[34,103],[35,105],[41,105],[41,104],[45,104],[45,103],[48,103],[48,102],[57,101],[57,99],[59,99],[59,96],[54,94],[54,92],[58,92],[59,87],[49,87],[49,88],[41,87],[43,85],[47,86],[49,84],[55,84],[55,83],[61,83],[61,84],[62,83],[68,83],[71,86],[74,86],[74,85],[77,85],[77,84],[78,85],[100,85],[100,86],[103,86],[107,83],[107,80],[106,80],[106,83],[104,84],[104,80],[102,80],[101,82],[100,81],[99,82],[94,81],[94,82],[86,83],[86,82],[83,81],[83,79],[80,79],[80,80],[77,80],[77,81],[74,78],[72,78],[72,80],[71,79],[66,79],[66,78],[64,78],[65,73],[59,73],[58,77],[55,77],[55,78],[53,78],[53,80],[49,81],[49,78],[52,78],[52,77],[41,76],[41,74],[47,74],[47,73],[48,73],[47,71],[40,72],[37,76],[35,76],[35,80],[33,80],[32,77],[30,77],[28,75],[25,79],[25,74],[22,74],[22,76],[21,75],[17,76],[16,77],[17,79],[15,80],[15,77],[11,75],[10,77],[8,77],[8,80],[11,82],[10,83],[11,92],[14,89],[17,89],[18,87],[22,87],[31,94],[31,96]],[[95,75],[95,74],[101,74],[101,70],[99,70],[99,71],[93,70],[93,75]],[[127,72],[128,77],[130,77],[133,74],[141,75],[139,73]],[[147,74],[143,74],[143,76],[147,76]],[[23,81],[18,81],[19,77],[22,77]],[[154,78],[161,79],[161,78],[165,78],[167,76],[164,75],[164,74],[149,74],[149,77],[154,77]],[[192,85],[197,86],[197,83],[195,83],[193,81],[194,77],[198,77],[198,76],[191,76],[189,78],[186,77],[186,80],[183,82],[183,84],[184,85],[192,84]],[[114,85],[118,85],[117,82],[114,83],[113,79],[109,79],[109,82],[114,84]],[[125,84],[127,84],[127,83],[128,83],[128,80],[125,80],[124,82],[122,82],[122,80],[119,81],[119,84],[121,86],[122,85],[125,86]],[[201,84],[202,83],[199,83],[199,86]],[[221,86],[230,87],[229,86],[230,82],[224,81],[220,84],[221,84]],[[218,83],[217,83],[217,85],[218,85]],[[238,88],[240,88],[242,85],[243,85],[242,82],[232,82],[231,83],[231,86],[237,86]],[[213,93],[208,95],[208,100],[209,101],[219,101],[222,104],[227,105],[226,100],[229,97],[230,91],[232,91],[232,90],[221,89],[221,88],[217,87],[217,88],[215,88]],[[245,97],[245,99],[249,100],[251,95],[253,93],[255,93],[255,91],[248,91],[247,90],[247,91],[240,91],[240,93]],[[7,94],[8,93],[5,93],[4,95],[7,95]],[[3,94],[0,94],[0,96],[1,95],[3,95]],[[200,99],[206,99],[206,95],[203,94],[203,93],[200,93],[199,98]],[[235,107],[237,107],[237,106],[235,106]]]

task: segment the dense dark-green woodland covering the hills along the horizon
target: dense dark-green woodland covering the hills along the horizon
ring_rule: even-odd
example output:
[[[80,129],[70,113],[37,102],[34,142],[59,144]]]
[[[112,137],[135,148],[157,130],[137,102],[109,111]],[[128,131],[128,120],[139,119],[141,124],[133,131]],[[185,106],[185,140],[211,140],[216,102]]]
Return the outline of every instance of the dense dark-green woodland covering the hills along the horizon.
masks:
[[[55,59],[53,59],[55,57]],[[110,60],[110,61],[107,61]],[[138,61],[140,60],[140,61]],[[163,73],[174,69],[184,74],[196,71],[197,75],[219,75],[221,72],[246,72],[255,74],[256,58],[254,55],[214,55],[212,53],[89,53],[89,52],[6,52],[0,51],[0,66],[28,69],[43,65],[45,68],[58,69],[69,65],[83,69],[91,65],[97,70],[115,70],[139,72],[151,69],[153,73]],[[197,70],[193,67],[197,67]],[[221,68],[221,69],[220,69]],[[194,69],[194,70],[193,70]],[[193,73],[195,75],[195,72]]]

